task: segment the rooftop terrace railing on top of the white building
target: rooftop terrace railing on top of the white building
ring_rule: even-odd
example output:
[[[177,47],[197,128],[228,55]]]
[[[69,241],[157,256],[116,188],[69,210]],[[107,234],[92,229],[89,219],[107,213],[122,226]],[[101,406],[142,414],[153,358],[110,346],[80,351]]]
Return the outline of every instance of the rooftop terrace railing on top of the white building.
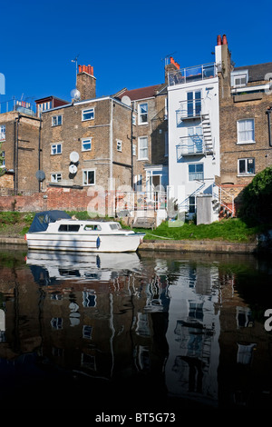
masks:
[[[185,84],[205,80],[217,76],[217,69],[214,63],[180,68],[180,70],[168,74],[168,84]]]

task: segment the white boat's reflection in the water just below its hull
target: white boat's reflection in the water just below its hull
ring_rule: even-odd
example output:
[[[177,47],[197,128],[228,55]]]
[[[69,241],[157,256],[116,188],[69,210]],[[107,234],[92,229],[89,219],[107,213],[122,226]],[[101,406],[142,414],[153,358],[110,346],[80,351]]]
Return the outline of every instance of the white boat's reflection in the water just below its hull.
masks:
[[[58,280],[109,281],[121,272],[139,272],[141,263],[137,253],[63,253],[34,251],[27,253],[34,280],[53,284]]]

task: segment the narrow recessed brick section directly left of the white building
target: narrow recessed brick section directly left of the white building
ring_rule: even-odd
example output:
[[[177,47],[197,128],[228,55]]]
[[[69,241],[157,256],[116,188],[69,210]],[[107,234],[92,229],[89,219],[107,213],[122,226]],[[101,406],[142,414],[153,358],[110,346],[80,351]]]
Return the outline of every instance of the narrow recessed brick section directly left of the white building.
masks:
[[[116,95],[132,108],[133,188],[148,193],[168,184],[167,84]]]

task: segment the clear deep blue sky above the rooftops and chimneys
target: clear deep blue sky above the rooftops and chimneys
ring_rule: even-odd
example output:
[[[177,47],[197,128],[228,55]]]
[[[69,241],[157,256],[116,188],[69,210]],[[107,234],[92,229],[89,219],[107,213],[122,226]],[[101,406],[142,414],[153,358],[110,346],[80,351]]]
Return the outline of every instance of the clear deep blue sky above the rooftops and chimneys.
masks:
[[[77,55],[93,66],[98,96],[163,83],[170,54],[180,66],[213,62],[217,35],[227,35],[236,66],[272,62],[271,13],[270,0],[2,2],[0,102],[70,101]]]

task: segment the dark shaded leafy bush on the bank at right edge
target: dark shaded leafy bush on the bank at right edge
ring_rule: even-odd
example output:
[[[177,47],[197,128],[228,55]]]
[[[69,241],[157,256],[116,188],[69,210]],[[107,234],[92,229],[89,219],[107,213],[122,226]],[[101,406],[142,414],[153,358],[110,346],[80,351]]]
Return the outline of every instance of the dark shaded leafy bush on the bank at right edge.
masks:
[[[272,166],[257,174],[244,189],[238,216],[247,223],[272,222]]]

